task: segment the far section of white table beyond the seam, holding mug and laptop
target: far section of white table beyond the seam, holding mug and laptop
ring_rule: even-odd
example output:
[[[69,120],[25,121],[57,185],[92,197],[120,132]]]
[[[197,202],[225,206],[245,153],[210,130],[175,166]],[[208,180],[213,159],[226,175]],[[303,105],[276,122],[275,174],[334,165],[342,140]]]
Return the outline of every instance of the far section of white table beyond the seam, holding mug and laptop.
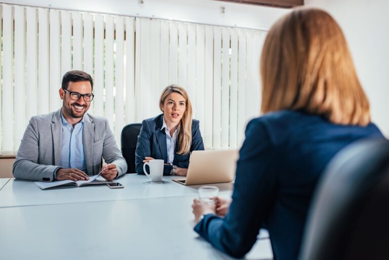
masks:
[[[41,190],[33,181],[12,178],[0,190],[0,208],[129,199],[150,199],[162,197],[196,196],[202,185],[185,186],[164,176],[161,182],[151,182],[145,175],[125,174],[116,179],[124,189],[109,189],[107,185],[87,185],[76,188],[73,185]],[[176,177],[177,178],[177,177]],[[219,187],[220,195],[230,196],[232,183],[212,184]]]

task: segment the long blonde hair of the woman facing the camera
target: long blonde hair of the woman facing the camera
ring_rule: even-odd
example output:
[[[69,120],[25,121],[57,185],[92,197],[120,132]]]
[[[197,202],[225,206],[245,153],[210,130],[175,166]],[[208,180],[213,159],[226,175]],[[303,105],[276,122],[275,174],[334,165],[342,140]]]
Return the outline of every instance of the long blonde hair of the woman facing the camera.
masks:
[[[186,90],[178,85],[167,86],[160,97],[160,109],[163,112],[162,106],[165,103],[165,99],[171,93],[178,93],[185,99],[186,109],[184,115],[181,118],[180,130],[178,131],[178,143],[180,150],[177,152],[179,155],[186,155],[190,151],[190,145],[192,143],[192,104]]]

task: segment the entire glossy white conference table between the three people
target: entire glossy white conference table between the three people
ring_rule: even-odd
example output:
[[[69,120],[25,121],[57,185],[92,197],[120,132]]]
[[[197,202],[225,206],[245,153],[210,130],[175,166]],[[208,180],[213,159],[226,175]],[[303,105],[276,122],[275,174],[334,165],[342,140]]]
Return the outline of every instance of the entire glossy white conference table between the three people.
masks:
[[[149,182],[127,174],[105,185],[40,190],[11,179],[0,190],[0,260],[3,259],[232,259],[193,231],[190,205],[197,188],[166,176]],[[230,196],[231,183],[216,184]],[[271,259],[261,232],[247,259]]]

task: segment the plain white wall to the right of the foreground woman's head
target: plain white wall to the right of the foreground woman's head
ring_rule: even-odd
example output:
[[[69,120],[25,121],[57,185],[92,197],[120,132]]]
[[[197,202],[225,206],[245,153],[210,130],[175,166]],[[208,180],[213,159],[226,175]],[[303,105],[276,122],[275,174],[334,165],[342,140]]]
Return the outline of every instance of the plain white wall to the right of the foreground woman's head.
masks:
[[[328,11],[342,27],[372,120],[389,137],[389,1],[305,0],[305,6]]]

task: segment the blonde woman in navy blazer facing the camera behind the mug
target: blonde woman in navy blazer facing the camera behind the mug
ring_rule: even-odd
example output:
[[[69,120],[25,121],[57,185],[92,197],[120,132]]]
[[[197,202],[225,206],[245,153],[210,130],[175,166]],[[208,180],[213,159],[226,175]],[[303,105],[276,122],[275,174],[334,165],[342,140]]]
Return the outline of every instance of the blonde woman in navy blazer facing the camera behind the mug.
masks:
[[[143,120],[135,151],[136,172],[153,159],[165,161],[164,175],[186,176],[192,151],[204,150],[199,121],[192,119],[192,106],[185,89],[171,85],[160,97],[163,114]]]

